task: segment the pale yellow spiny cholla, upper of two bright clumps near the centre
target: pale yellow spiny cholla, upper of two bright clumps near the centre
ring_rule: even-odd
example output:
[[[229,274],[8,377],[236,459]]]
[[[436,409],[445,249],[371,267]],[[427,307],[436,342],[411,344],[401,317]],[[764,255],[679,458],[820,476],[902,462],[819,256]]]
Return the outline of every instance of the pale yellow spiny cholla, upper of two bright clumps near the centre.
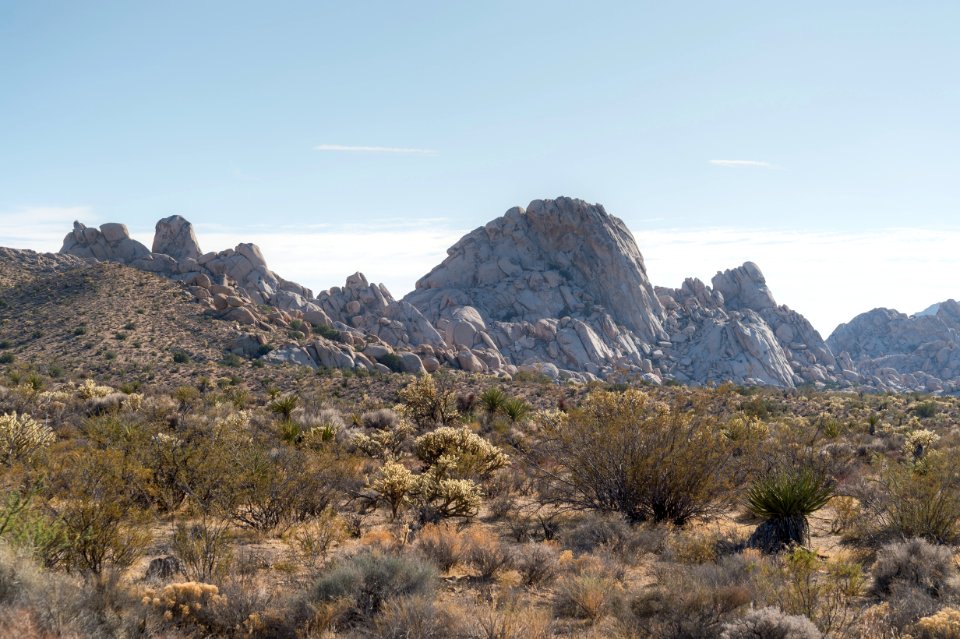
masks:
[[[429,466],[446,458],[448,474],[461,478],[486,477],[508,461],[502,450],[466,426],[443,426],[425,433],[414,441],[414,451]]]

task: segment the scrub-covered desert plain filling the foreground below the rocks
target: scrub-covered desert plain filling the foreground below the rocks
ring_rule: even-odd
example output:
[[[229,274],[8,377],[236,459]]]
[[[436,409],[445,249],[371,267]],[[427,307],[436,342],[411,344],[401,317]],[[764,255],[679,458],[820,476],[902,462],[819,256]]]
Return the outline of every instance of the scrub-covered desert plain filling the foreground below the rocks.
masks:
[[[0,635],[958,636],[955,398],[171,352],[0,367]]]

